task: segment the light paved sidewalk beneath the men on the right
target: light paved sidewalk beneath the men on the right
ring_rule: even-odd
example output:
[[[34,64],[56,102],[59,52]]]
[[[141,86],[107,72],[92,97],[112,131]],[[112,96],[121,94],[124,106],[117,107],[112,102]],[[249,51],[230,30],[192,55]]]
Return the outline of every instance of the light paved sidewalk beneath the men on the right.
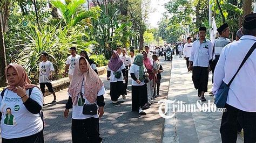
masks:
[[[208,91],[212,88],[209,74]],[[205,94],[206,103],[214,97]],[[174,56],[167,99],[197,104],[199,97],[192,82],[192,72],[187,73],[186,60]],[[169,109],[170,110],[170,109]],[[172,111],[172,110],[171,110]],[[173,112],[171,112],[173,113]],[[219,133],[222,112],[176,112],[173,118],[165,119],[162,142],[221,142]],[[237,142],[243,142],[238,135]]]

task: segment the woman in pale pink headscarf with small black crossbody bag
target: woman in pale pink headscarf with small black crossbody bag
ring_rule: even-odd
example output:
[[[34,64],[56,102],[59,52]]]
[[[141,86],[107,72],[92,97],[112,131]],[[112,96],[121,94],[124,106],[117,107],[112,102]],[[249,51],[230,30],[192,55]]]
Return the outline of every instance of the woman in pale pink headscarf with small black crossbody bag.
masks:
[[[75,71],[69,85],[69,100],[66,103],[64,117],[72,111],[72,142],[101,142],[99,137],[99,118],[104,113],[105,88],[90,63],[81,56],[75,65]],[[88,113],[86,111],[92,111]]]

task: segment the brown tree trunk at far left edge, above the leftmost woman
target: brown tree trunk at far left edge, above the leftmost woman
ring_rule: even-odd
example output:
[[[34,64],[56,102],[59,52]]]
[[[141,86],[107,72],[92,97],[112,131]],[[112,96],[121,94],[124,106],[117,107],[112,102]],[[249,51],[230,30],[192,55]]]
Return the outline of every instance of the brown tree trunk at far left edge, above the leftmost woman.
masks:
[[[5,68],[6,68],[6,55],[5,55],[5,46],[4,46],[4,33],[3,33],[3,15],[0,12],[0,87],[5,87],[6,77],[5,77]]]

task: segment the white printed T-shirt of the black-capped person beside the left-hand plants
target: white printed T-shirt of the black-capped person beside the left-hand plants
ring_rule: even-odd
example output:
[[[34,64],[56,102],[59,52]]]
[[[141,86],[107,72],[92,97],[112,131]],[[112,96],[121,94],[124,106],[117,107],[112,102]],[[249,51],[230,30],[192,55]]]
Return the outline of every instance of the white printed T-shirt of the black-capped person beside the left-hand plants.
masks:
[[[39,83],[51,83],[49,80],[50,71],[54,71],[53,65],[50,61],[39,63]]]

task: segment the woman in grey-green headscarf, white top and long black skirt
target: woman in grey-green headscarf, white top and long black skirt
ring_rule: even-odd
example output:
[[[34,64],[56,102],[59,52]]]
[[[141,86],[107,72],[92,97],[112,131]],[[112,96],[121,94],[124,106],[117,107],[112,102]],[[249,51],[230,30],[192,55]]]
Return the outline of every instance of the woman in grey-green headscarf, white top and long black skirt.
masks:
[[[143,55],[139,54],[130,67],[130,74],[132,77],[132,111],[139,112],[141,116],[146,115],[146,112],[143,111],[144,105],[147,103],[147,84],[143,78],[146,71],[143,65]]]

